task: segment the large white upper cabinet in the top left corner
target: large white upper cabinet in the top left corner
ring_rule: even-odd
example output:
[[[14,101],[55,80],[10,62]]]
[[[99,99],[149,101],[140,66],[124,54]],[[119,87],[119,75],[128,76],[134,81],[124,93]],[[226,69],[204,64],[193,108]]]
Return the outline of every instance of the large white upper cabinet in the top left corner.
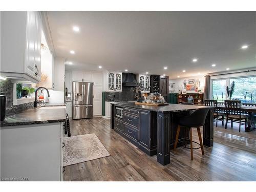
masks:
[[[38,83],[41,73],[41,15],[1,12],[1,75]]]

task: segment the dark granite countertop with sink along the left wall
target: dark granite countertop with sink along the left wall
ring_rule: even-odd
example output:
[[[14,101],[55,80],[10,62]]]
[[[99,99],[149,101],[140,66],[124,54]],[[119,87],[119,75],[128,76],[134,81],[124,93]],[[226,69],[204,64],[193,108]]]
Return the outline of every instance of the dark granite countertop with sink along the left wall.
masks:
[[[7,129],[6,126],[40,124],[64,122],[66,120],[65,103],[48,106],[38,106],[37,108],[28,109],[23,112],[8,116],[4,121],[1,121],[1,129]]]

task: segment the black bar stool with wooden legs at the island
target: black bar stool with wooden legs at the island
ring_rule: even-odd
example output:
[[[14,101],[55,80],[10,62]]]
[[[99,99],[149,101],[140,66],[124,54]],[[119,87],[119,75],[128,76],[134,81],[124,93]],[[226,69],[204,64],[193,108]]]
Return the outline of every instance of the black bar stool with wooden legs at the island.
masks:
[[[191,127],[196,127],[199,141],[200,141],[200,148],[202,151],[202,155],[204,155],[204,146],[203,146],[203,142],[202,142],[200,126],[204,125],[205,118],[207,116],[208,111],[209,111],[208,108],[199,108],[199,109],[193,111],[193,113],[191,113],[190,115],[181,117],[179,119],[178,129],[177,129],[177,134],[176,134],[176,139],[175,139],[175,145],[174,145],[174,151],[176,150],[176,147],[177,147],[181,126],[185,126],[185,129],[188,127],[189,135],[190,135],[190,155],[191,155],[191,160],[193,160],[193,140],[192,140],[192,128]],[[185,136],[185,139],[186,139],[186,136]],[[186,141],[185,141],[185,144],[186,144]]]

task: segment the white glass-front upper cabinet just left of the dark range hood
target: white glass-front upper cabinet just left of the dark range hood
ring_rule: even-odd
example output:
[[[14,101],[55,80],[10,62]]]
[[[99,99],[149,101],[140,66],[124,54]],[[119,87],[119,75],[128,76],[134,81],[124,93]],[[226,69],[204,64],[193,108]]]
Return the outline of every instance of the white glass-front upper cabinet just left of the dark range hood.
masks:
[[[122,91],[122,73],[108,72],[108,91]]]

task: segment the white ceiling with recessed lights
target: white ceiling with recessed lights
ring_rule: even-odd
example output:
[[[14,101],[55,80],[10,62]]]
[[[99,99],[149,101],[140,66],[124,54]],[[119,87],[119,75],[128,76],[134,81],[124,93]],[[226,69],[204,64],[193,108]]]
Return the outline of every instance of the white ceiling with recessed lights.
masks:
[[[47,16],[56,56],[73,62],[67,69],[99,70],[100,65],[177,78],[256,66],[256,12],[60,11]],[[240,49],[244,44],[249,48]],[[194,57],[198,62],[191,62]]]

